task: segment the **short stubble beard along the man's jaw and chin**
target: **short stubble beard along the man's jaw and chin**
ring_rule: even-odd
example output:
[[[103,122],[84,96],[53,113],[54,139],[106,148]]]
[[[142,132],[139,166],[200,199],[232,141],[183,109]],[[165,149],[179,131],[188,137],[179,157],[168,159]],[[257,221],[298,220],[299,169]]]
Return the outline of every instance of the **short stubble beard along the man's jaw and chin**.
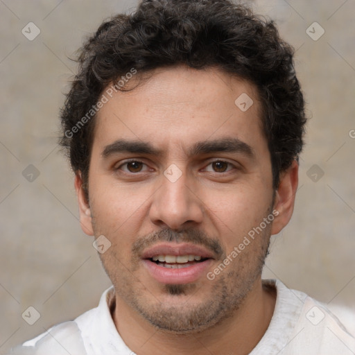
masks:
[[[164,286],[165,294],[177,297],[179,306],[172,306],[171,302],[162,304],[157,297],[152,297],[153,303],[148,303],[145,293],[152,292],[147,291],[146,286],[141,283],[137,286],[137,279],[132,275],[138,265],[135,264],[128,272],[128,268],[116,255],[116,248],[111,248],[110,253],[107,250],[105,254],[100,254],[100,257],[116,294],[144,320],[168,334],[195,334],[232,317],[243,305],[255,282],[261,277],[270,245],[270,230],[271,225],[268,225],[263,233],[211,282],[209,296],[202,297],[203,300],[198,304],[189,303],[189,298],[199,292],[197,284]],[[180,239],[180,234],[176,234],[175,238]],[[219,260],[223,261],[224,258],[225,252]],[[252,267],[250,263],[253,263]],[[112,265],[117,267],[107,267]],[[182,303],[179,297],[186,297],[186,302]]]

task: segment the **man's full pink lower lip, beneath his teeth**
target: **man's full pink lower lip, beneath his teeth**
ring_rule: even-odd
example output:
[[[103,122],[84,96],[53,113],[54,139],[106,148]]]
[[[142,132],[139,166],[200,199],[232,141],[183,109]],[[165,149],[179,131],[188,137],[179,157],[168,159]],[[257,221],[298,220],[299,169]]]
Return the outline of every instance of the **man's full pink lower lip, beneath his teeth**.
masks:
[[[202,275],[206,275],[211,261],[211,259],[207,259],[186,268],[172,269],[164,268],[164,266],[145,259],[144,266],[148,268],[150,275],[162,284],[190,284],[196,282]]]

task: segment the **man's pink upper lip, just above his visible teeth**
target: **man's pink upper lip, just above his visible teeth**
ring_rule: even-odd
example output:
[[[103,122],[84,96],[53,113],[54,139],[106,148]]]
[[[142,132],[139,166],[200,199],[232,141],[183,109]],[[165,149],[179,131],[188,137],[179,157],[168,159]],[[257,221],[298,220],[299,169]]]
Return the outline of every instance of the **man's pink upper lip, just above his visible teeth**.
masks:
[[[202,245],[191,243],[159,243],[154,245],[141,254],[142,259],[151,259],[156,255],[198,255],[202,258],[213,259],[214,254]]]

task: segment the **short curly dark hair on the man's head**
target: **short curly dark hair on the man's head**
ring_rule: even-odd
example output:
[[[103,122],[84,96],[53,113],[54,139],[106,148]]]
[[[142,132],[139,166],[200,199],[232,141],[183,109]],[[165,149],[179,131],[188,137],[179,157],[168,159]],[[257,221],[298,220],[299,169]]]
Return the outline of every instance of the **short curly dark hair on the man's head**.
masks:
[[[230,0],[143,0],[132,14],[103,22],[79,53],[79,71],[61,111],[60,144],[85,186],[93,107],[103,90],[132,68],[147,73],[180,64],[217,67],[249,80],[259,91],[274,188],[279,174],[298,159],[306,117],[294,51],[279,37],[273,21],[248,7]]]

